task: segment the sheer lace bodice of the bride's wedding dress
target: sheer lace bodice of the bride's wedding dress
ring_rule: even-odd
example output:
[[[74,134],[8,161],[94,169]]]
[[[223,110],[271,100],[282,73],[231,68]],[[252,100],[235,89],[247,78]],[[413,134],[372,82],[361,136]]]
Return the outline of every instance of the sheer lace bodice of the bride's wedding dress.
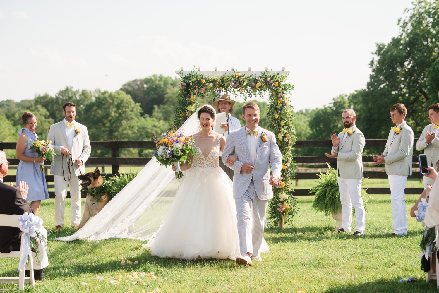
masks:
[[[193,169],[196,173],[207,173],[212,168],[216,168],[219,166],[219,149],[221,148],[221,135],[218,135],[216,138],[200,138],[196,136],[195,140],[195,148],[197,149],[197,155],[194,157],[194,163],[191,169]],[[212,148],[212,142],[209,140],[213,140],[212,142],[216,145]],[[198,142],[198,144],[197,144]],[[202,148],[200,148],[200,147]],[[209,152],[210,149],[210,152]],[[204,153],[204,154],[203,154]],[[205,156],[207,154],[207,157]]]

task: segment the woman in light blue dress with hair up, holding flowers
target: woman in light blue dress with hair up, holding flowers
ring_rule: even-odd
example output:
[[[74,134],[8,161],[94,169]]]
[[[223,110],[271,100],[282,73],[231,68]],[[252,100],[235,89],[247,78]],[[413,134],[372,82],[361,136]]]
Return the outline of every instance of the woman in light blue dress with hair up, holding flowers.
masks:
[[[32,203],[30,206],[35,211],[35,215],[40,209],[41,200],[49,199],[47,191],[46,177],[44,171],[40,171],[40,163],[44,162],[43,157],[39,157],[32,151],[29,145],[38,138],[35,133],[36,117],[31,112],[24,112],[22,123],[25,128],[18,131],[17,140],[17,159],[20,160],[17,167],[16,181],[25,181],[29,185],[27,201]]]

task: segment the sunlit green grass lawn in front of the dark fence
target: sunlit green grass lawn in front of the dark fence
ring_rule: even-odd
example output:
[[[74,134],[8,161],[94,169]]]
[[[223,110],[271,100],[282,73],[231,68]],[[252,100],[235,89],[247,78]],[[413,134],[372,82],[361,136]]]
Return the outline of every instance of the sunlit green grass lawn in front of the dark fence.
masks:
[[[419,259],[421,224],[408,218],[408,235],[390,238],[392,213],[389,195],[372,195],[363,237],[337,234],[335,221],[311,209],[312,196],[298,199],[300,214],[286,228],[268,228],[265,239],[270,253],[252,267],[233,260],[200,262],[153,257],[140,241],[108,239],[99,242],[58,242],[71,235],[70,201],[66,200],[66,224],[54,231],[54,199],[42,202],[49,237],[49,266],[44,280],[32,292],[436,292],[436,282],[425,283]],[[407,210],[418,195],[406,195]],[[84,199],[83,199],[84,202]],[[353,224],[355,226],[355,224]],[[202,233],[202,231],[200,231]],[[122,258],[138,264],[121,264]],[[18,276],[18,258],[0,259],[0,276]],[[157,279],[142,277],[132,284],[126,276],[154,271]],[[111,284],[110,280],[119,281]],[[97,277],[103,279],[97,279]],[[413,283],[399,279],[416,277]],[[128,281],[128,282],[126,282]],[[86,283],[86,284],[82,284]],[[144,284],[143,284],[144,283]],[[0,284],[0,288],[17,288]]]

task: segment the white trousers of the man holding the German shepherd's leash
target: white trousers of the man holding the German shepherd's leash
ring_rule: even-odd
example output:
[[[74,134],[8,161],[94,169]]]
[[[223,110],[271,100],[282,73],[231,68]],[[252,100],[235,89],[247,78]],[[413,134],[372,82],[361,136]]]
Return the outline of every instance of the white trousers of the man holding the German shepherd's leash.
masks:
[[[55,181],[55,226],[64,226],[64,208],[65,197],[67,195],[67,182],[61,175],[54,175]],[[79,225],[81,221],[81,192],[79,189],[80,181],[75,174],[72,174],[68,187],[70,188],[70,197],[72,198],[71,220],[72,227]]]

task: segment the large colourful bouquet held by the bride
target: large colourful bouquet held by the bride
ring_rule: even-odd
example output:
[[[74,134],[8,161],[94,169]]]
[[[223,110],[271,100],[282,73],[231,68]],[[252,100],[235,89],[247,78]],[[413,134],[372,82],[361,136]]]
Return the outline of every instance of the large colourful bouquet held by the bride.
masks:
[[[182,133],[177,134],[176,129],[172,128],[171,131],[162,133],[162,139],[155,140],[155,152],[151,153],[158,162],[162,165],[170,166],[171,164],[177,167],[175,171],[175,177],[183,177],[183,173],[180,170],[180,163],[184,163],[187,156],[194,156],[196,153],[194,138],[191,136],[184,136]],[[189,162],[190,163],[190,162]]]

